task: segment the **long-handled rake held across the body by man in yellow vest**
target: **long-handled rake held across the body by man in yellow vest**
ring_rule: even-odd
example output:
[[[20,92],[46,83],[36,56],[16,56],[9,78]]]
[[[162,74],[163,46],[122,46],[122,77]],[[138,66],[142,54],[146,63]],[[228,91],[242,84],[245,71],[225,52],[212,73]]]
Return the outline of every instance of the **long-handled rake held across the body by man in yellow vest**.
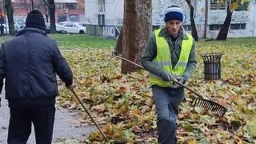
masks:
[[[134,66],[138,66],[142,70],[145,70],[144,67],[142,67],[142,66],[138,65],[137,63],[132,62],[126,58],[119,57],[118,55],[113,55],[113,56],[115,58],[122,59],[126,62],[130,62],[131,64],[134,64]],[[198,96],[198,97],[192,96],[192,102],[191,102],[192,106],[198,106],[198,107],[202,107],[206,110],[210,110],[210,111],[214,112],[215,114],[217,114],[219,117],[222,117],[226,113],[226,108],[224,106],[218,104],[217,102],[203,98],[203,96],[201,94],[198,94],[198,92],[192,90],[189,86],[186,86],[186,85],[182,84],[181,82],[178,82],[178,81],[172,81],[172,82],[177,83],[179,86],[186,88],[186,90],[189,90],[191,93]]]

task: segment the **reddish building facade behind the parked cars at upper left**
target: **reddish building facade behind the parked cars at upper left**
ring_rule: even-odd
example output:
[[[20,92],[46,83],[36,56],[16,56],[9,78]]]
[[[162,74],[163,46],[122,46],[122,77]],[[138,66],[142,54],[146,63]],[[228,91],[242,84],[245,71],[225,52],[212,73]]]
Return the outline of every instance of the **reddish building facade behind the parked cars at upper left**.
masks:
[[[14,22],[24,25],[26,16],[32,10],[31,0],[12,0],[14,8]],[[49,10],[42,0],[33,0],[34,10],[40,10],[50,22]],[[55,2],[55,22],[85,22],[84,0],[54,0]]]

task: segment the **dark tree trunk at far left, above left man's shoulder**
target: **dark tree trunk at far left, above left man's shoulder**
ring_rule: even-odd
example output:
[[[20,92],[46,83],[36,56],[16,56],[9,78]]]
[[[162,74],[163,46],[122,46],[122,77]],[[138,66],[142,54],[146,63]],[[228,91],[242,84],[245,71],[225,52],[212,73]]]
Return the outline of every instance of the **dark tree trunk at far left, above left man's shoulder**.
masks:
[[[11,0],[4,0],[5,2],[5,8],[6,8],[6,14],[8,18],[8,26],[9,26],[9,34],[15,35],[15,27],[14,27],[14,9],[11,5]]]

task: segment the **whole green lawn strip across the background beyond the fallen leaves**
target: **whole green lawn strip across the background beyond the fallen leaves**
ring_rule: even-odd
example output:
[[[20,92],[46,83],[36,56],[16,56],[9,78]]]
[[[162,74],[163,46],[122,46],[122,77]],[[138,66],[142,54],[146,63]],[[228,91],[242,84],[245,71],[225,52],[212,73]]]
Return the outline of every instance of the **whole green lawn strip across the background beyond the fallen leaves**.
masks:
[[[58,42],[60,49],[83,49],[83,48],[110,48],[114,47],[116,40],[110,38],[102,38],[85,34],[49,34],[50,38],[54,38]],[[0,42],[10,39],[10,36],[0,37]],[[256,38],[228,38],[226,41],[207,41],[200,39],[196,42],[196,48],[215,47],[216,50],[222,47],[230,49],[253,48],[256,49]],[[209,49],[212,50],[212,49]],[[211,52],[211,51],[206,51]]]

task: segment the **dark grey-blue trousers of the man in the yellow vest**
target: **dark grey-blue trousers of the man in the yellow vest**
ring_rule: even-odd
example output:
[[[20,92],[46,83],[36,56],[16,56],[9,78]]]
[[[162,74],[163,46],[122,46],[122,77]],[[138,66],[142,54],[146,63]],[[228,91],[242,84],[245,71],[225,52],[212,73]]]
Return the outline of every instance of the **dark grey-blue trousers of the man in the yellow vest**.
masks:
[[[184,99],[184,89],[182,87],[174,89],[170,87],[152,86],[152,91],[158,114],[158,143],[177,143],[176,121],[179,103]]]

